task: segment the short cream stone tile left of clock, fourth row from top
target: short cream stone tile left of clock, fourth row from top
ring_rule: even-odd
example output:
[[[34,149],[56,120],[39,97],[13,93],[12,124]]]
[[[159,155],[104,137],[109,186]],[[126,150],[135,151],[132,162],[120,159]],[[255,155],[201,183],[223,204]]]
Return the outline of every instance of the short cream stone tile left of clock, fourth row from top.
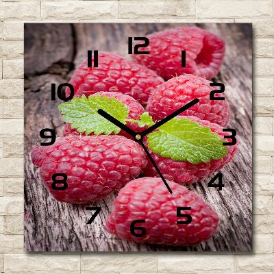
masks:
[[[3,78],[23,78],[24,77],[24,60],[12,59],[3,60]]]

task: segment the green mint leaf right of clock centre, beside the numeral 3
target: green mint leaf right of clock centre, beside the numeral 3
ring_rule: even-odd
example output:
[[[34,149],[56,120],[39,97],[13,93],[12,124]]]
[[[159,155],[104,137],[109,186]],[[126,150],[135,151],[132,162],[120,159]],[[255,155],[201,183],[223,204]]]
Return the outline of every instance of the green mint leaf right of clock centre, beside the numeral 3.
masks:
[[[159,129],[149,134],[148,147],[165,158],[199,164],[221,159],[227,154],[219,135],[199,123],[174,118]]]

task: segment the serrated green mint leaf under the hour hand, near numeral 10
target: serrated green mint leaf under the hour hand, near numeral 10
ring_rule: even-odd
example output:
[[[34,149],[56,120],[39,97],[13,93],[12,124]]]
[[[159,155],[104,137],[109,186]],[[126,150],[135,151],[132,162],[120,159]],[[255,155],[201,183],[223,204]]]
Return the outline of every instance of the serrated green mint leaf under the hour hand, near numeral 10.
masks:
[[[71,127],[77,132],[85,132],[86,135],[94,134],[118,134],[120,128],[103,118],[97,111],[105,110],[111,116],[125,125],[125,119],[129,113],[126,106],[116,98],[100,97],[90,95],[88,98],[75,97],[70,102],[58,105],[58,110],[63,114],[63,119],[71,123]]]

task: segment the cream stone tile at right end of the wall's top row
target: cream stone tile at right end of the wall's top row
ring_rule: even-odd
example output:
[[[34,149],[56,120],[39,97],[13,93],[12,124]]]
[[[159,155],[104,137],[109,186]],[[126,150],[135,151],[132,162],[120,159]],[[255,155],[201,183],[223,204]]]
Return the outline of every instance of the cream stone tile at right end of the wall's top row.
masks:
[[[256,8],[254,8],[256,6]],[[272,18],[272,1],[196,0],[197,18]]]

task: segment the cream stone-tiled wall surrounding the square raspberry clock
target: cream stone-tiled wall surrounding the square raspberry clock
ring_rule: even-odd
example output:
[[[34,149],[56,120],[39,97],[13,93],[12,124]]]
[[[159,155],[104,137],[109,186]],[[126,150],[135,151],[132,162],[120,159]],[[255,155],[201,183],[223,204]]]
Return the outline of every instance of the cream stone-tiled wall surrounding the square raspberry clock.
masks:
[[[23,251],[23,23],[253,23],[253,254]],[[0,272],[274,273],[273,1],[0,2]]]

